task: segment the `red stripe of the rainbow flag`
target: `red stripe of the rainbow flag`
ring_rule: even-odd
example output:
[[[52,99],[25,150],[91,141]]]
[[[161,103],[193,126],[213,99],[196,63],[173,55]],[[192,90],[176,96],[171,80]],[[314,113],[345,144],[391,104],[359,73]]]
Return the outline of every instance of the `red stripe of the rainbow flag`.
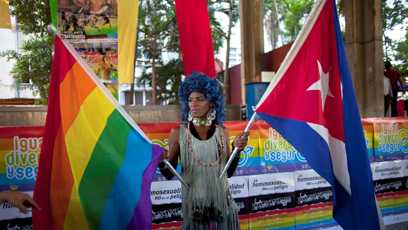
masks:
[[[54,49],[47,118],[33,197],[42,208],[40,212],[33,212],[33,228],[41,230],[54,229],[51,218],[50,185],[54,143],[61,125],[60,83],[76,62],[58,36],[55,36]]]

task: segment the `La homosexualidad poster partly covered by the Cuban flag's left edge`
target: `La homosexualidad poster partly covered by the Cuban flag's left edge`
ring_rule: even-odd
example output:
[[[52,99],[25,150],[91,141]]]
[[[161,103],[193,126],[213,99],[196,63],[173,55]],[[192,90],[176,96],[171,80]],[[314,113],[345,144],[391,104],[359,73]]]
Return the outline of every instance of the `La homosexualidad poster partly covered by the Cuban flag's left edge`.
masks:
[[[295,171],[296,229],[341,229],[333,219],[333,191],[313,169]]]

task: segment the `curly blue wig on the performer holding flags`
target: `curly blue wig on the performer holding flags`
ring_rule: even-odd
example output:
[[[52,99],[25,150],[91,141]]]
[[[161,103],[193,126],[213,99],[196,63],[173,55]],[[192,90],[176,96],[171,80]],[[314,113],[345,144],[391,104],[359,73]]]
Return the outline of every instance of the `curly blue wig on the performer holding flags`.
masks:
[[[193,71],[190,77],[186,77],[184,81],[180,83],[178,96],[180,97],[180,105],[182,105],[181,113],[184,118],[184,124],[188,123],[188,96],[191,92],[199,92],[206,96],[206,101],[213,103],[212,109],[216,111],[215,119],[213,123],[221,125],[226,118],[226,112],[224,107],[225,93],[221,91],[220,83],[217,79],[211,79],[202,72]]]

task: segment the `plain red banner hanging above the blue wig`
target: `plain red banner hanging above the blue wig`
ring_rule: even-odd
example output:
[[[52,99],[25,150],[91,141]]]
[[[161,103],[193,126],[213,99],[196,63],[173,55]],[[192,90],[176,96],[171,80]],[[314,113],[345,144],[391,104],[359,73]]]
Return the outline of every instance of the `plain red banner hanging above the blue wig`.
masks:
[[[213,39],[205,0],[175,0],[184,73],[215,77]]]

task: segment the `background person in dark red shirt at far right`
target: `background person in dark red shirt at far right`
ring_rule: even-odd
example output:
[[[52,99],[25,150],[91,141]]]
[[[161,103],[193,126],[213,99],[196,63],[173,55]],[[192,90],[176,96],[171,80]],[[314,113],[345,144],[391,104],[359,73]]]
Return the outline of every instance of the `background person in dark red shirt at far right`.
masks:
[[[404,92],[404,94],[406,93],[405,84],[404,81],[402,80],[401,72],[399,72],[398,70],[394,70],[389,61],[387,61],[385,64],[384,76],[390,79],[392,88],[391,116],[395,117],[397,116],[397,96],[399,91],[398,81],[402,87],[402,91]]]

